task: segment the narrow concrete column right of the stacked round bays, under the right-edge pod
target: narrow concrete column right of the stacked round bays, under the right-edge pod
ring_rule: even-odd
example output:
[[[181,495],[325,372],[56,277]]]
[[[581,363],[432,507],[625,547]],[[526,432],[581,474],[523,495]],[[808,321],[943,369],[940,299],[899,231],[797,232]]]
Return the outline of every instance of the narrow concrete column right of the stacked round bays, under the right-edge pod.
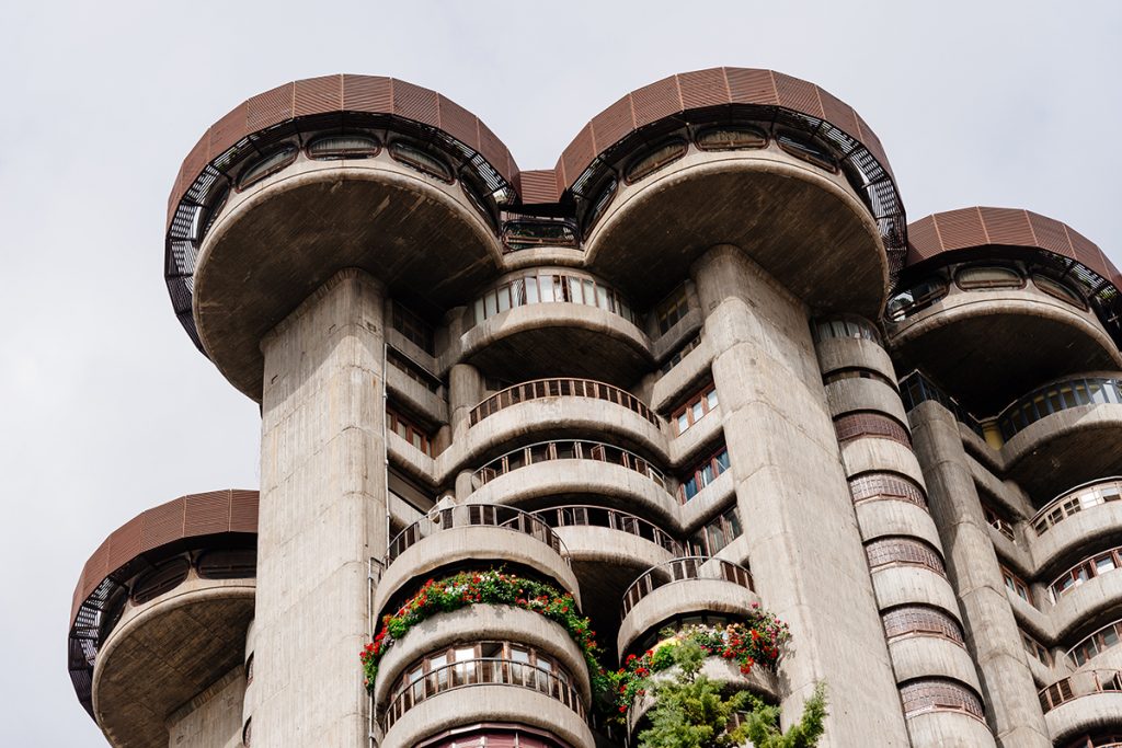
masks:
[[[946,550],[947,573],[958,592],[967,646],[981,671],[997,742],[1002,748],[1049,748],[1052,744],[971,478],[958,423],[934,401],[912,409],[909,419],[928,486],[931,516]]]

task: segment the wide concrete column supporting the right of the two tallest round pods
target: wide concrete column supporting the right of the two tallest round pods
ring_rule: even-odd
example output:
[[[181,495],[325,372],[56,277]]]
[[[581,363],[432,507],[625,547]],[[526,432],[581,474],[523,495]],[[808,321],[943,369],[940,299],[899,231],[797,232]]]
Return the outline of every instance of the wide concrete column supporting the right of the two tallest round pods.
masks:
[[[831,686],[821,746],[903,748],[889,652],[807,310],[736,247],[692,268],[756,589],[788,621],[783,722]]]

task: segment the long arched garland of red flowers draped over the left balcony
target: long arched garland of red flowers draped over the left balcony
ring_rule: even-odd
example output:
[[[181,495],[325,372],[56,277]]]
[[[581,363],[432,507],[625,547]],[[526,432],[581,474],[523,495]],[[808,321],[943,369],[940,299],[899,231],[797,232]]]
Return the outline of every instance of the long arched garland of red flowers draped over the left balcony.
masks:
[[[383,616],[377,636],[360,654],[367,690],[374,689],[378,663],[394,641],[436,613],[475,604],[522,608],[559,624],[585,655],[594,691],[605,692],[610,689],[608,676],[599,663],[600,648],[596,644],[596,631],[590,629],[588,618],[577,611],[577,602],[572,595],[551,584],[491,569],[460,572],[440,581],[430,579],[397,612]]]

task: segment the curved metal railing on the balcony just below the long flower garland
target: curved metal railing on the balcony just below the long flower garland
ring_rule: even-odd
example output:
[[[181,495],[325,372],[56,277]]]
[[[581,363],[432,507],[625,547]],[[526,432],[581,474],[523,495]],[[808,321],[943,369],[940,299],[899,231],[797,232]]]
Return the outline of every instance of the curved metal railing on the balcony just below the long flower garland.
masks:
[[[417,681],[406,684],[386,708],[385,729],[392,728],[402,714],[425,699],[445,691],[475,685],[511,685],[539,691],[560,701],[577,712],[581,719],[586,719],[585,704],[569,677],[562,677],[557,672],[542,669],[530,663],[479,657],[438,667]]]

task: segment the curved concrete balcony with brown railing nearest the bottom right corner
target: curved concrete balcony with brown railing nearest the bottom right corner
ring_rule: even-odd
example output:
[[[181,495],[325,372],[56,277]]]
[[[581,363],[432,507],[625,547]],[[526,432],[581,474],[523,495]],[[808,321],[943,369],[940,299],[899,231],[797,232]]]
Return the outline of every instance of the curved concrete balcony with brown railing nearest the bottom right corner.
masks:
[[[1122,719],[1122,671],[1083,671],[1039,692],[1048,733],[1055,741],[1102,729]]]

